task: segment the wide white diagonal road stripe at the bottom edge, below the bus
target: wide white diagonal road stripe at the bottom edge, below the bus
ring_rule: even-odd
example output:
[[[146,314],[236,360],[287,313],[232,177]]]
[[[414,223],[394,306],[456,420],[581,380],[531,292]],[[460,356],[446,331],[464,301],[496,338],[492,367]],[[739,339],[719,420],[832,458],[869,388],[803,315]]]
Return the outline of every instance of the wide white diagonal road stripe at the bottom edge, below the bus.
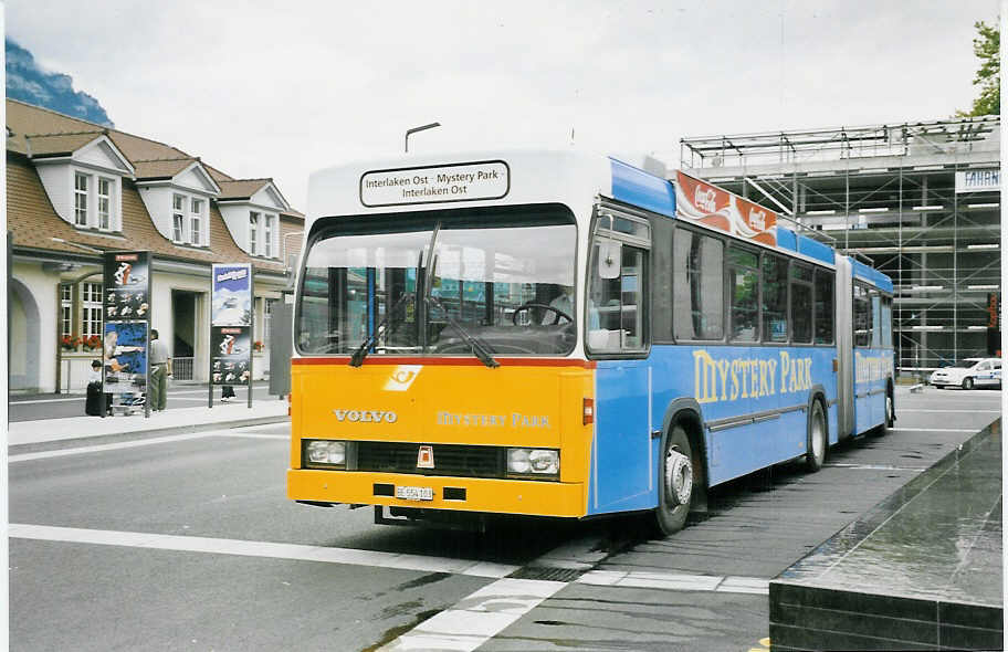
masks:
[[[379,650],[475,650],[565,586],[540,579],[498,579]]]

